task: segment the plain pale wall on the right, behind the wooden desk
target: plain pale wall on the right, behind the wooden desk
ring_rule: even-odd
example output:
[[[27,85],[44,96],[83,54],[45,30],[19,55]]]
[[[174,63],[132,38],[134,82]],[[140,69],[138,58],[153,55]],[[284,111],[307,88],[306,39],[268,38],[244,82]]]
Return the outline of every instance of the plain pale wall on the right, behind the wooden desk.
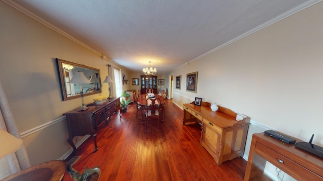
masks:
[[[305,141],[315,134],[323,145],[322,22],[321,2],[177,68],[169,75],[182,75],[182,88],[173,101],[182,107],[199,97]],[[186,74],[195,71],[196,94],[185,91]]]

